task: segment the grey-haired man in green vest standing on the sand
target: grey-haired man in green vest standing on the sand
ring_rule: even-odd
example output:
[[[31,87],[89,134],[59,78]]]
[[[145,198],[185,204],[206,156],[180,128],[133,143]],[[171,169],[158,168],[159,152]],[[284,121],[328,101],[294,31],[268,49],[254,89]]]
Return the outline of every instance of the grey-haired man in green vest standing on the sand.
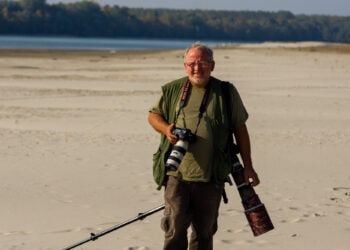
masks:
[[[191,45],[185,52],[184,67],[187,76],[162,87],[162,96],[148,117],[161,133],[159,150],[153,156],[153,174],[159,188],[165,186],[161,225],[165,231],[164,250],[186,250],[189,226],[189,249],[212,250],[224,180],[232,167],[232,131],[243,160],[245,181],[255,186],[259,178],[250,156],[245,125],[248,114],[235,87],[211,76],[215,67],[213,51],[201,43]],[[224,84],[229,95],[225,95]],[[231,117],[225,96],[230,98]],[[197,137],[177,169],[165,167],[178,140],[172,133],[175,127],[190,129]]]

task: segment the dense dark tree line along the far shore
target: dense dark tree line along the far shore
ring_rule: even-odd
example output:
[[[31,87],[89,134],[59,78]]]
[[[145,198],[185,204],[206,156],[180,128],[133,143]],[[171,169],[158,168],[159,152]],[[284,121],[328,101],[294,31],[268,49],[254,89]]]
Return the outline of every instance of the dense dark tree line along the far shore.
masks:
[[[0,34],[350,43],[350,17],[0,0]]]

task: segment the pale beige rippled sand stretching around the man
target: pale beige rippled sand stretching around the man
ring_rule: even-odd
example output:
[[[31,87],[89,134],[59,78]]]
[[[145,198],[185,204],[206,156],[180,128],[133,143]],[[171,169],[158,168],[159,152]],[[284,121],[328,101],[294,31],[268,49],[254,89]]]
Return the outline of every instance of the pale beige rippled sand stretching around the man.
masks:
[[[0,248],[62,249],[163,203],[148,108],[183,51],[0,50]],[[319,43],[221,46],[275,230],[254,237],[234,187],[217,250],[350,245],[350,53]],[[162,212],[77,249],[159,250]]]

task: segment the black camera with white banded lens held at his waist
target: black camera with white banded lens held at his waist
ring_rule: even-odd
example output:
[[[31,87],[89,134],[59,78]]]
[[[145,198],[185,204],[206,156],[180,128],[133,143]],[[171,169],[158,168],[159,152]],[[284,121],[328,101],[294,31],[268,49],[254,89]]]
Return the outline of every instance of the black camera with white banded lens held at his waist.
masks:
[[[175,128],[172,133],[179,139],[173,146],[171,153],[165,163],[167,170],[176,171],[186,154],[190,142],[196,140],[196,135],[187,128]]]

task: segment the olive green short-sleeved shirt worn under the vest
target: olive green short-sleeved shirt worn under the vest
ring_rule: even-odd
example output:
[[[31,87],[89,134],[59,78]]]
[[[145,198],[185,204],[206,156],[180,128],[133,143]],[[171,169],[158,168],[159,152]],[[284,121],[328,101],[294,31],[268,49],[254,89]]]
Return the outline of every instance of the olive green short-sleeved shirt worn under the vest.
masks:
[[[188,96],[187,104],[180,110],[176,127],[187,128],[195,133],[197,130],[197,140],[189,144],[188,150],[183,157],[177,171],[168,171],[168,175],[177,176],[180,179],[194,182],[209,182],[212,174],[212,160],[214,152],[213,131],[210,126],[210,119],[213,117],[213,102],[211,92],[209,94],[208,105],[203,117],[200,119],[198,129],[199,108],[205,93],[205,88],[192,87]],[[248,113],[244,108],[242,100],[233,88],[232,100],[232,124],[239,126],[246,122]],[[177,106],[179,110],[179,105]],[[150,109],[150,112],[164,116],[163,96]]]

